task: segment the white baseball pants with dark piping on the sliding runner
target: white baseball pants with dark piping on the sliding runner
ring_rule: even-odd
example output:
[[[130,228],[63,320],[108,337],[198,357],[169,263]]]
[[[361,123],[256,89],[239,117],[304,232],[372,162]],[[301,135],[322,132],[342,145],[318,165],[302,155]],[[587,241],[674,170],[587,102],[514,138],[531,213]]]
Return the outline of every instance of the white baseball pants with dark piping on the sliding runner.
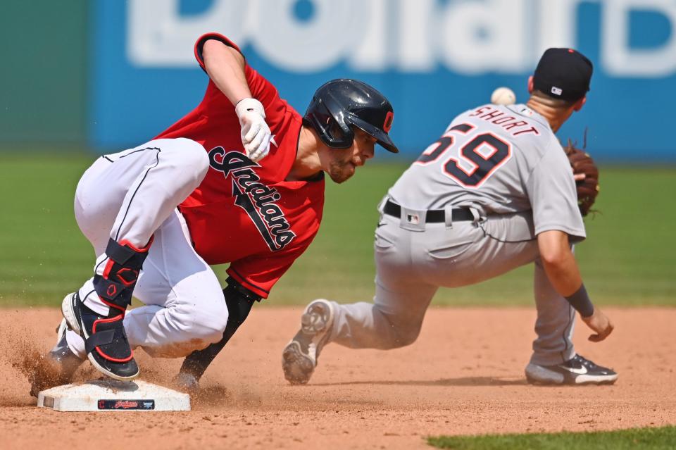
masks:
[[[190,139],[155,139],[134,149],[101,156],[82,175],[75,218],[94,247],[101,275],[108,239],[142,247],[154,236],[134,289],[145,306],[127,311],[125,330],[133,348],[176,358],[220,341],[227,323],[223,291],[213,270],[194,251],[178,204],[208,170],[204,147]],[[93,277],[80,287],[84,304],[100,314]],[[68,331],[68,346],[84,358],[84,341]]]

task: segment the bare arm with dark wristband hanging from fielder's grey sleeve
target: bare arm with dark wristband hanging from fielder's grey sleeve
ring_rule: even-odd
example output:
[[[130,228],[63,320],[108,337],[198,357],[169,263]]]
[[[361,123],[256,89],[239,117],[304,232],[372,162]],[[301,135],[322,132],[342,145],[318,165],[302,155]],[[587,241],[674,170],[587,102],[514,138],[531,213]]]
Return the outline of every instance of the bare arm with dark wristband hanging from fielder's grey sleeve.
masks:
[[[584,323],[596,332],[592,342],[601,342],[613,332],[613,324],[599,308],[592,305],[582,284],[580,270],[570,250],[568,234],[550,230],[537,235],[542,265],[556,292],[565,297],[579,313]]]

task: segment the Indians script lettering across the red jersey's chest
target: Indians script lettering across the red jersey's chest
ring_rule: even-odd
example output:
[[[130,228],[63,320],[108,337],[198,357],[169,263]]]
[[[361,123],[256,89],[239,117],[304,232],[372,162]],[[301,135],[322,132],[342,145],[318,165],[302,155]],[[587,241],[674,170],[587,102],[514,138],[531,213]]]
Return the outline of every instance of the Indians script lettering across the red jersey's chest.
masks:
[[[275,204],[282,196],[274,187],[261,183],[261,177],[253,171],[261,165],[239,151],[225,153],[220,146],[209,151],[209,165],[226,178],[232,175],[234,204],[246,211],[271,251],[281,250],[294,240],[296,234],[290,230],[282,208]]]

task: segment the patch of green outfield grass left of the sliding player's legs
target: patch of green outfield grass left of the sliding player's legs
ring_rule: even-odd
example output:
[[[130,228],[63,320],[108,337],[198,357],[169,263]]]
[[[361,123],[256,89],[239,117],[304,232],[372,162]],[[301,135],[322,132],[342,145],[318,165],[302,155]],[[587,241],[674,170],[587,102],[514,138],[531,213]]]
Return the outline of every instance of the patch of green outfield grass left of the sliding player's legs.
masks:
[[[92,272],[73,195],[94,156],[0,155],[0,304],[58,305]]]

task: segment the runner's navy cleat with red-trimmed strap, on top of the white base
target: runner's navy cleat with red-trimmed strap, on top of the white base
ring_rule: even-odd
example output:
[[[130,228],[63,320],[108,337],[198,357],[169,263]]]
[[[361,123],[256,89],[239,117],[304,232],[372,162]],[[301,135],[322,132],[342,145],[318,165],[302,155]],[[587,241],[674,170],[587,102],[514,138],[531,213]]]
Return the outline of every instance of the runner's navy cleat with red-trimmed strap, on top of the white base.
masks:
[[[70,329],[84,339],[87,358],[99,372],[122,381],[139,375],[123,325],[124,313],[111,308],[110,315],[101,316],[84,306],[77,292],[65,296],[61,312]]]

